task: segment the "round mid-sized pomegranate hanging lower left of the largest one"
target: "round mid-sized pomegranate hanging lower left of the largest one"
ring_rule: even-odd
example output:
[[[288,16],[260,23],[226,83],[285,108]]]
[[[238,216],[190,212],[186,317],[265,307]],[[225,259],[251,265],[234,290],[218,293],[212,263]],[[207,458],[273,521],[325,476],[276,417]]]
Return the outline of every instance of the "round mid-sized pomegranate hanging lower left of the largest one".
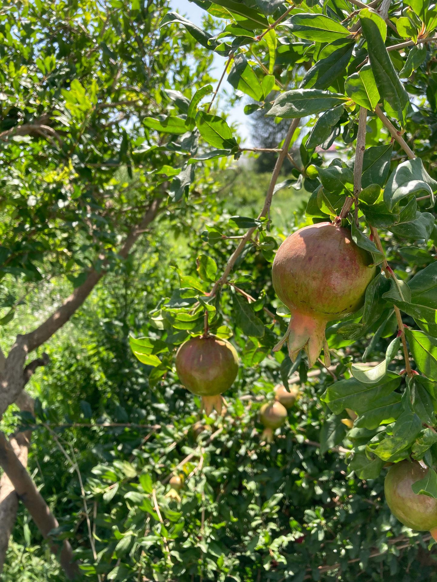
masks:
[[[222,392],[231,387],[238,373],[238,354],[225,339],[212,335],[191,338],[179,347],[176,371],[187,390],[202,396],[203,409],[209,415],[221,413]]]

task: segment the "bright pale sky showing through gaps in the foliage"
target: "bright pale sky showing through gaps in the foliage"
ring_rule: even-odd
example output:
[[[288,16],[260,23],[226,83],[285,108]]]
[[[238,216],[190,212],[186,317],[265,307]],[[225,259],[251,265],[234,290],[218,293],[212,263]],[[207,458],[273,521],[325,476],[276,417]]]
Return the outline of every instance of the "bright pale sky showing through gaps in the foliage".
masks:
[[[202,15],[205,12],[204,12],[204,10],[202,10],[202,8],[199,8],[199,6],[197,6],[195,3],[189,2],[188,0],[170,0],[170,6],[173,10],[175,10],[175,12],[178,12],[182,16],[185,16],[186,18],[188,18],[188,20],[191,20],[191,22],[197,24],[198,26],[202,26]],[[223,73],[224,65],[225,65],[225,59],[223,58],[223,56],[218,56],[218,55],[214,54],[213,74],[216,77],[217,82],[218,82],[218,79],[220,79],[221,73]],[[227,81],[224,79],[222,87],[225,86],[226,84],[227,84]],[[228,85],[228,90],[229,90],[230,85],[229,84],[227,84],[227,85]],[[218,94],[220,95],[220,93],[221,93],[221,89],[220,89]],[[241,102],[238,105],[236,105],[234,108],[232,108],[232,111],[230,111],[229,118],[230,118],[231,122],[238,123],[239,135],[242,137],[246,147],[251,147],[251,139],[250,139],[250,133],[251,133],[250,125],[251,124],[250,124],[249,118],[246,115],[244,115],[244,105],[245,105],[245,103]]]

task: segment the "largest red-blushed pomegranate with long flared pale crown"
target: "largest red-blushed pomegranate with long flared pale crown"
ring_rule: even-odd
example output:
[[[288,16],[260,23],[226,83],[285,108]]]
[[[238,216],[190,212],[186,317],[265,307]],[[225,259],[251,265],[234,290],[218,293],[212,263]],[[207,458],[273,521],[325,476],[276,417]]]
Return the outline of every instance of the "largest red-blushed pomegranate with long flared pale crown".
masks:
[[[305,226],[284,240],[274,257],[272,280],[291,318],[274,352],[287,342],[290,359],[304,349],[311,367],[323,348],[325,364],[330,365],[326,324],[362,306],[375,276],[371,262],[349,229],[330,222]]]

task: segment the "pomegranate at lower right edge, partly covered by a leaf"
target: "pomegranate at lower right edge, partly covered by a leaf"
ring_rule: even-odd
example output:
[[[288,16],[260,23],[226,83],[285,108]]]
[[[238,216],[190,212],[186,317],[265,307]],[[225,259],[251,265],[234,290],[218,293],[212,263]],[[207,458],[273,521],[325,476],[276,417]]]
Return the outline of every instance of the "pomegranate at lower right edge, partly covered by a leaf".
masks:
[[[428,473],[417,461],[401,461],[390,467],[384,481],[387,505],[394,517],[412,530],[437,534],[437,499],[414,493],[411,486]]]

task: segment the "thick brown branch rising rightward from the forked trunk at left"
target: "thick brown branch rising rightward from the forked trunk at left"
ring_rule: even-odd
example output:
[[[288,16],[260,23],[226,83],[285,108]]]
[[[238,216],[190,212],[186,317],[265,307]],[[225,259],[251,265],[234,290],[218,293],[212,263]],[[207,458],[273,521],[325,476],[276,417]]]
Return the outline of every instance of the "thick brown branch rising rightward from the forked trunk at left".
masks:
[[[156,217],[160,201],[158,199],[154,200],[149,209],[147,210],[145,217],[126,237],[125,243],[119,250],[118,254],[122,258],[126,258],[131,251],[133,244],[135,244],[138,239],[140,232],[142,232],[150,222]],[[41,346],[44,342],[47,342],[51,336],[58,331],[75,313],[75,311],[82,306],[86,298],[89,296],[91,291],[100,281],[100,279],[105,275],[104,269],[100,271],[92,270],[89,275],[80,285],[77,287],[73,293],[64,301],[64,303],[59,307],[52,315],[50,315],[47,320],[45,320],[39,327],[34,329],[33,332],[28,333],[26,336],[27,349],[32,352],[37,347]],[[12,400],[13,402],[13,400]]]

